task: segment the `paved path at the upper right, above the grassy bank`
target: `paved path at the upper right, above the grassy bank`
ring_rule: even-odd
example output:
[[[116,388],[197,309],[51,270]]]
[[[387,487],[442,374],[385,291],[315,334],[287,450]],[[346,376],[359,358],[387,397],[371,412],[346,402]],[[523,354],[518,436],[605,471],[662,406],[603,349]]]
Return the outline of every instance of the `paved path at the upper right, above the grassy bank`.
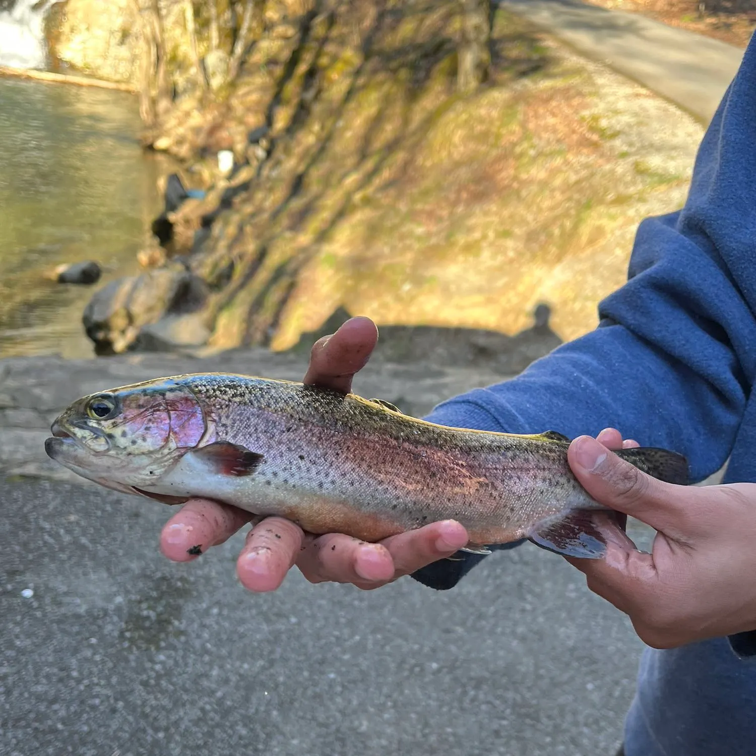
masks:
[[[585,57],[609,65],[708,123],[743,51],[640,14],[579,0],[500,0]]]

